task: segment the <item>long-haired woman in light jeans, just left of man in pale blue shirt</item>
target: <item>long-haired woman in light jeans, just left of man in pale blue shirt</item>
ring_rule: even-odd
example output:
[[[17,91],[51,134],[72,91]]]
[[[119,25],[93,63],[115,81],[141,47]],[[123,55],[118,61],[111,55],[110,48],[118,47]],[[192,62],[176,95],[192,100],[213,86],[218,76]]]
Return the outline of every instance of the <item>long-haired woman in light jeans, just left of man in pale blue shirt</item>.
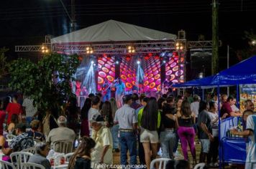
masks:
[[[114,97],[112,97],[109,100],[109,102],[111,105],[112,118],[114,119],[114,115],[116,115],[116,110],[118,109],[116,100],[114,99]],[[110,129],[111,135],[112,135],[112,140],[113,140],[113,151],[116,153],[119,153],[119,151],[120,151],[119,150],[118,130],[119,130],[119,124],[113,125],[113,127],[111,127],[111,129]]]

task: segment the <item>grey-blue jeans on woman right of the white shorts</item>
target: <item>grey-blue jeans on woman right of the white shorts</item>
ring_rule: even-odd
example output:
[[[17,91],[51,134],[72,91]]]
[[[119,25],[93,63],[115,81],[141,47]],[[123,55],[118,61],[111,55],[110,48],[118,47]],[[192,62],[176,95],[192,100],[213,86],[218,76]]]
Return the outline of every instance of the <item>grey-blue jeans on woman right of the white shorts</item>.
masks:
[[[176,135],[173,130],[160,132],[160,143],[162,148],[162,158],[174,159],[173,148],[175,146]]]

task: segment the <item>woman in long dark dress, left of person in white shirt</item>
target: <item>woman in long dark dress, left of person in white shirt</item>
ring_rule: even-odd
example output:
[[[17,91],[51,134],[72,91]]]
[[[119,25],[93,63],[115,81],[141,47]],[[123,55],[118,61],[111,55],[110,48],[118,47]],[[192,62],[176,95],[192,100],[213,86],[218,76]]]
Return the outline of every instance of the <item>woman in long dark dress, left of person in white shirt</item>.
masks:
[[[81,130],[80,130],[80,135],[81,137],[83,136],[88,136],[90,135],[89,132],[89,123],[88,123],[88,111],[91,108],[91,99],[88,97],[86,98],[86,101],[83,104],[83,108],[81,110]]]

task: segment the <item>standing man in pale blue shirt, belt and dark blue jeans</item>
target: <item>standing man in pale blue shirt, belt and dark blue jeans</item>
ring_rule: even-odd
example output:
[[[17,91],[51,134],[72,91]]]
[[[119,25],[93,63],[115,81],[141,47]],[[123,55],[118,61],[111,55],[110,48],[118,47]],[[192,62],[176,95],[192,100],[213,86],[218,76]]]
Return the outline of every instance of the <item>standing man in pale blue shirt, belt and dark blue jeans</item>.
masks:
[[[119,143],[121,147],[121,164],[127,164],[127,150],[130,155],[130,165],[137,164],[137,117],[135,110],[130,107],[132,104],[131,95],[125,95],[123,97],[124,105],[116,111],[114,117],[114,123],[119,123]]]

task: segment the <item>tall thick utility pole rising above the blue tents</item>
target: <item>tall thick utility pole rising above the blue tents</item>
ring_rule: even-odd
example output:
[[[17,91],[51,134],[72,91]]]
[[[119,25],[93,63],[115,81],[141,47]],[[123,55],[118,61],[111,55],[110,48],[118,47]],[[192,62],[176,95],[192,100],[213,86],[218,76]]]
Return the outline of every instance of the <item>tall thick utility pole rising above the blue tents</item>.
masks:
[[[211,74],[218,72],[219,62],[219,0],[212,0],[212,62]]]

